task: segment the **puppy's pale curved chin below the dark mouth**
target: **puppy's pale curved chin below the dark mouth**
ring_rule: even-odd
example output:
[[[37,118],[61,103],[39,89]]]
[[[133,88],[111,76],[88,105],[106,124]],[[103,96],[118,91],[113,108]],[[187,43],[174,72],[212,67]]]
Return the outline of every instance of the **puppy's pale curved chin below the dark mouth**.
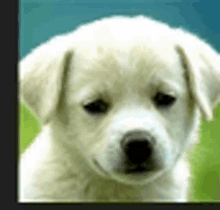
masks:
[[[142,171],[134,173],[119,172],[118,170],[105,170],[97,160],[93,161],[96,172],[104,178],[113,179],[127,185],[146,185],[153,182],[163,174],[159,171]]]

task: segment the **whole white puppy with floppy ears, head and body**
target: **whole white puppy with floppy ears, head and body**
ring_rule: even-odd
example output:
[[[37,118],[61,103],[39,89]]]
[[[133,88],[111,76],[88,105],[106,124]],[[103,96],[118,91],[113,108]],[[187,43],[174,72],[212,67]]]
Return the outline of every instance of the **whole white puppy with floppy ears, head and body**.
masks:
[[[42,131],[19,162],[20,201],[186,201],[186,152],[220,99],[220,56],[181,29],[112,17],[19,63]]]

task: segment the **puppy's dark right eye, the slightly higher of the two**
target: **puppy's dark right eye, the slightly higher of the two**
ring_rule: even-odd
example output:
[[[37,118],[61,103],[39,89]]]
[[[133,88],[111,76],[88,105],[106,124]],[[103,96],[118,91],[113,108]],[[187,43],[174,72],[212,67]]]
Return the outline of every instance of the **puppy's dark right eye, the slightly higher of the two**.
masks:
[[[175,102],[176,98],[171,95],[158,92],[153,100],[157,107],[163,108],[171,106]]]

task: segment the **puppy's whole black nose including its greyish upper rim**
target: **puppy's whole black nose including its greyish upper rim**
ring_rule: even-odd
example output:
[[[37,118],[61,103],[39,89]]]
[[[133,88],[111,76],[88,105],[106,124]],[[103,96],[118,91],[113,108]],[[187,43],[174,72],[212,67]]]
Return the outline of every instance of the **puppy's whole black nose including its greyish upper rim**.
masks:
[[[122,140],[122,148],[130,164],[140,165],[152,155],[154,139],[145,131],[132,131]]]

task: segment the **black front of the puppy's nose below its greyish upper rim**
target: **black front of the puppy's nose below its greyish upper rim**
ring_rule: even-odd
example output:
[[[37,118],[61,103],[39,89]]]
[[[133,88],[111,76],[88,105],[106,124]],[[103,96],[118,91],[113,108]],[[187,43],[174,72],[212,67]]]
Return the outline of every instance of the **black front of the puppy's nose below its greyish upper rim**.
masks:
[[[124,152],[132,164],[141,164],[152,155],[152,145],[147,139],[131,139],[124,145]]]

